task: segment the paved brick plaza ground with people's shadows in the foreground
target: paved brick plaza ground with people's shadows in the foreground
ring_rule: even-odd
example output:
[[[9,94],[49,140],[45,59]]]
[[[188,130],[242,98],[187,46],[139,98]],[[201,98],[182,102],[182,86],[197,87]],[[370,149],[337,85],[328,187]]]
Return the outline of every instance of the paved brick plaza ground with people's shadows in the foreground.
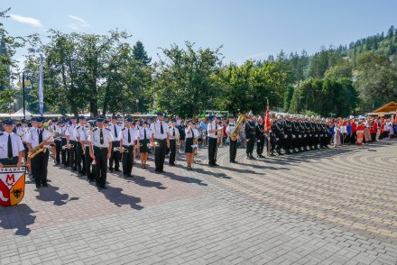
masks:
[[[193,171],[108,174],[103,192],[51,166],[51,187],[0,208],[0,264],[397,264],[397,142],[227,151],[216,169],[203,150]]]

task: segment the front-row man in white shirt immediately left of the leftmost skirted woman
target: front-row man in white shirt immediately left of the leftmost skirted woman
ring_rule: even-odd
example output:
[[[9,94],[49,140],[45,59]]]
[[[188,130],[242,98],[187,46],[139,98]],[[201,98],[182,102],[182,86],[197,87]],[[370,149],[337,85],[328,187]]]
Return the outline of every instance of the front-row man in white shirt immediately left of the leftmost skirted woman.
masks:
[[[122,154],[123,174],[125,178],[133,177],[131,172],[134,165],[134,149],[136,148],[137,133],[135,131],[135,123],[131,118],[125,119],[125,128],[120,133],[120,153]]]

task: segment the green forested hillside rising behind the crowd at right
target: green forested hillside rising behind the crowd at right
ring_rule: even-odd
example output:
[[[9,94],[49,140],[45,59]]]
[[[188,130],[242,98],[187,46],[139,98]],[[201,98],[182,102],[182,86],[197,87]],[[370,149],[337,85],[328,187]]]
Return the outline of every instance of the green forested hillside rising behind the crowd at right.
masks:
[[[289,55],[281,51],[275,57],[270,56],[267,60],[258,62],[258,65],[275,62],[287,74],[288,87],[283,105],[285,111],[309,111],[324,115],[341,114],[342,111],[346,115],[372,111],[389,101],[397,100],[396,53],[397,30],[391,26],[386,33],[377,33],[348,45],[321,47],[310,56],[305,50],[300,54],[294,52]],[[337,80],[341,78],[352,82],[344,80],[344,85],[338,84],[340,82]],[[336,83],[330,85],[332,91],[327,91],[324,84],[329,85],[330,82]],[[351,87],[346,87],[348,84]],[[341,87],[346,91],[340,91]],[[305,91],[319,97],[307,98]],[[324,105],[329,103],[319,102],[321,96],[325,101],[331,101],[330,108],[334,110],[324,109]],[[331,96],[333,98],[329,98]],[[335,101],[337,96],[341,96],[340,102]],[[346,105],[345,99],[350,104]],[[343,105],[348,110],[332,105]]]

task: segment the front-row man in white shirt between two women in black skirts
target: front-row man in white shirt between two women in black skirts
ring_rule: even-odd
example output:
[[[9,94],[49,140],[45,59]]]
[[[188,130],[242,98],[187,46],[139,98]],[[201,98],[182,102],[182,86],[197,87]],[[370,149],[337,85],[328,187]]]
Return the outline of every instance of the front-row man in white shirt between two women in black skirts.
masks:
[[[154,146],[154,162],[157,173],[164,172],[164,160],[167,147],[170,147],[170,135],[167,123],[164,123],[164,114],[157,114],[157,122],[152,124],[152,146]],[[155,143],[156,142],[156,143]]]

